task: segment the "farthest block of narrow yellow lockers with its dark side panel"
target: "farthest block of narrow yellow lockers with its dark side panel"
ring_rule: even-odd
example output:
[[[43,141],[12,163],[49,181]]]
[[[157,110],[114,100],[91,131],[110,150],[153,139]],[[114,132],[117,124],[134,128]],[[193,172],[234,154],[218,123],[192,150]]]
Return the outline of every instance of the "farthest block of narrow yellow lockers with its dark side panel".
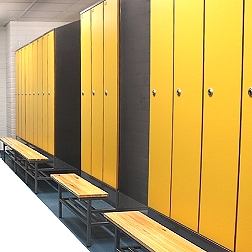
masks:
[[[16,64],[17,136],[80,169],[80,22],[17,50]]]

